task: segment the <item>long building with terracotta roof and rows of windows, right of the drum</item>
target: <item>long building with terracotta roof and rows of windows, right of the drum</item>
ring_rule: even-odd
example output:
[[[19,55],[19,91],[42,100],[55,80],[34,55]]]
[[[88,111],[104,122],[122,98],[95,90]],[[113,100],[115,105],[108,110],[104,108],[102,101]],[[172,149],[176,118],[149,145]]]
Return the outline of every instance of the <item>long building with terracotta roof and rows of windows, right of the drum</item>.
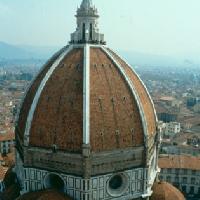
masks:
[[[183,193],[200,198],[200,158],[191,155],[162,155],[159,158],[160,180]]]

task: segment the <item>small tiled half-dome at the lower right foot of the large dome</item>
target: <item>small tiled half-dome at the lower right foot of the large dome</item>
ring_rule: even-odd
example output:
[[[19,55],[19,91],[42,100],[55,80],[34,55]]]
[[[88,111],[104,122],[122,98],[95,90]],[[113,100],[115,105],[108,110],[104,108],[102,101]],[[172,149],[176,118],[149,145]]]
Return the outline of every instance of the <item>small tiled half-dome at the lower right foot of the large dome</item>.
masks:
[[[153,194],[150,200],[185,200],[183,194],[166,182],[157,182],[153,186]]]

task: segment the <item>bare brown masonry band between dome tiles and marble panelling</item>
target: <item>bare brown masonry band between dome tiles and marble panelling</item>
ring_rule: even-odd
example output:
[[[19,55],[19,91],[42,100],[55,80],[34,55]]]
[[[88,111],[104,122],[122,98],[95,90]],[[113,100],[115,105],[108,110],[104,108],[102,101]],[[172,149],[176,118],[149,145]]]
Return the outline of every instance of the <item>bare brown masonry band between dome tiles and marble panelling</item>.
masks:
[[[18,140],[16,140],[18,141]],[[90,176],[123,171],[144,165],[144,147],[135,147],[111,152],[92,153],[89,158]],[[152,153],[153,154],[153,153]],[[151,156],[151,155],[150,155]],[[85,159],[81,154],[42,149],[26,148],[24,151],[24,166],[48,171],[68,172],[69,174],[84,174]],[[113,167],[115,166],[115,167]]]

